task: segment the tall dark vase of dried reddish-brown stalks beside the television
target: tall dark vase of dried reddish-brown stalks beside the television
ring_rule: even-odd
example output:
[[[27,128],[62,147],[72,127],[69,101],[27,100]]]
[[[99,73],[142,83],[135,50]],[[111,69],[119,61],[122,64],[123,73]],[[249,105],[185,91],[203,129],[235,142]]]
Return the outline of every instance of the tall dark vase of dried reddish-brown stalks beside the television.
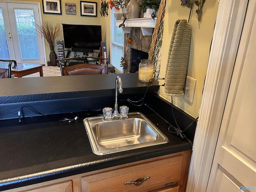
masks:
[[[56,42],[56,38],[59,34],[60,25],[56,24],[55,26],[52,25],[51,22],[44,21],[40,25],[36,25],[38,32],[44,36],[46,41],[48,42],[50,46],[50,63],[51,66],[56,66],[56,53],[54,52],[54,44]]]

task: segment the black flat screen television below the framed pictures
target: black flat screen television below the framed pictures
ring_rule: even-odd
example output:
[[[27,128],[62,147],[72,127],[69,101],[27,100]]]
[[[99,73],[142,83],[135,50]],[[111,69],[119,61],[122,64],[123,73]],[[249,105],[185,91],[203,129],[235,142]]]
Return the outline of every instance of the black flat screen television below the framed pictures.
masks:
[[[101,26],[62,24],[62,27],[65,48],[79,52],[100,49]]]

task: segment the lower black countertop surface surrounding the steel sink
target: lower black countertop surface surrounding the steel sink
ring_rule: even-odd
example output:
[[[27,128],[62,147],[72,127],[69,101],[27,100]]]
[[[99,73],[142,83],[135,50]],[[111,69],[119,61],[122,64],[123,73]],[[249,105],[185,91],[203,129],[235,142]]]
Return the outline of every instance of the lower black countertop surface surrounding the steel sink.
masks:
[[[188,140],[168,132],[169,124],[147,106],[140,108],[168,138],[156,146],[96,155],[82,120],[60,121],[60,115],[1,120],[0,190],[191,150]],[[95,116],[95,115],[92,115]]]

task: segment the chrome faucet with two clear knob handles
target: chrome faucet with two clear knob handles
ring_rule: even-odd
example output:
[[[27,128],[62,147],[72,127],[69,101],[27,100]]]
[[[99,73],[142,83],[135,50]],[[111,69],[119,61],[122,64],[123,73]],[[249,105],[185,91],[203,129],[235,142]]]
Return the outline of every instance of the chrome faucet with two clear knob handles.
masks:
[[[122,80],[121,80],[120,76],[116,77],[114,112],[112,113],[112,108],[105,107],[103,109],[104,120],[117,120],[117,119],[128,118],[129,108],[127,106],[120,106],[120,113],[118,112],[118,103],[117,103],[118,92],[119,93],[123,92]]]

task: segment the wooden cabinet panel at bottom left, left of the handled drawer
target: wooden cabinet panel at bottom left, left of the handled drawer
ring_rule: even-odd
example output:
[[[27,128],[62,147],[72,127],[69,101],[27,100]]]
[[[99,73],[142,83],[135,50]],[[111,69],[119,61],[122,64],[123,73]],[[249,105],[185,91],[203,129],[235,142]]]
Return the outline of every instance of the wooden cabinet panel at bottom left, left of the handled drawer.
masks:
[[[72,182],[63,182],[22,192],[72,192]]]

